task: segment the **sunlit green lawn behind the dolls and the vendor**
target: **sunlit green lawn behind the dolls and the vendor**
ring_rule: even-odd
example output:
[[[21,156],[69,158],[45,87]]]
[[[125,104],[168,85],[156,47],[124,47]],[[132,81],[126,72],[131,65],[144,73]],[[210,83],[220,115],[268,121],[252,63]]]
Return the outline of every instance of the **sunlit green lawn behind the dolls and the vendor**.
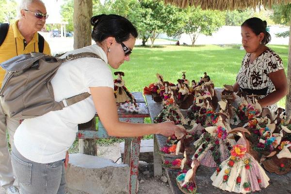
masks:
[[[199,80],[206,71],[215,87],[222,87],[223,84],[232,85],[236,79],[245,54],[239,47],[240,45],[158,46],[153,49],[135,47],[130,61],[118,70],[124,71],[125,84],[132,92],[141,92],[149,83],[157,81],[156,73],[162,74],[164,81],[176,83],[182,76],[182,70],[187,71],[186,79],[189,81]],[[288,46],[269,47],[281,57],[287,73]],[[285,107],[285,99],[280,100],[279,106]]]

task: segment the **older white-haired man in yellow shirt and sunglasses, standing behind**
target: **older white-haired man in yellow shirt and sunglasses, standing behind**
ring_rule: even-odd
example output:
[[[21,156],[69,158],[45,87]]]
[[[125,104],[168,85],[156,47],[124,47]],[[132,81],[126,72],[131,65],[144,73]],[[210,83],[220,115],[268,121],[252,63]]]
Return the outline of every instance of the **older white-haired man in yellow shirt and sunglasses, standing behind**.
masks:
[[[0,63],[30,52],[50,54],[49,44],[37,33],[44,27],[48,17],[45,4],[41,0],[22,0],[19,8],[19,20],[12,25],[1,25],[0,35],[4,37],[4,41],[0,44]],[[6,28],[6,31],[2,30],[3,28]],[[0,84],[4,74],[5,71],[0,68]],[[6,139],[7,129],[9,143],[13,144],[13,136],[18,126],[19,121],[6,117],[0,106],[0,185],[6,189],[6,194],[19,194]],[[21,183],[21,180],[19,182]]]

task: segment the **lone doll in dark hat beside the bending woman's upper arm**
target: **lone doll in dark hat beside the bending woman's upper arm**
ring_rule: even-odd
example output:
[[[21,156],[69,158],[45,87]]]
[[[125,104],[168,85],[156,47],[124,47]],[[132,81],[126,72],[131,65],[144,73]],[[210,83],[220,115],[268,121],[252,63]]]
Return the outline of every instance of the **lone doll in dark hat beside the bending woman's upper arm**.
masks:
[[[133,96],[130,94],[129,90],[124,85],[124,80],[122,76],[124,73],[122,71],[114,72],[114,75],[118,76],[114,80],[114,96],[117,103],[129,102],[133,100]]]

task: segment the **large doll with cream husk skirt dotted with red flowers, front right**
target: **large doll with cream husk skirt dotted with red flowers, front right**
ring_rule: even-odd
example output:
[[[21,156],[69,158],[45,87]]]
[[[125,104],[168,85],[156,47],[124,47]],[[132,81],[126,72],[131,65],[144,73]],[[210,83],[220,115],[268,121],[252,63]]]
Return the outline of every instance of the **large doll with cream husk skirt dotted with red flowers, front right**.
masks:
[[[237,133],[241,138],[232,147],[231,156],[211,176],[212,185],[224,191],[243,194],[266,188],[270,179],[249,153],[249,143],[244,136],[244,133],[250,132],[244,128],[235,128],[229,133]]]

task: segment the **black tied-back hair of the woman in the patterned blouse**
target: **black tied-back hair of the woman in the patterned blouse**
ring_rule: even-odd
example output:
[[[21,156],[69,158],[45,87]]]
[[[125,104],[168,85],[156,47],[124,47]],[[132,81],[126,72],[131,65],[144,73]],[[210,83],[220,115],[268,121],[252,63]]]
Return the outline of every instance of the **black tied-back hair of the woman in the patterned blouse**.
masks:
[[[264,38],[261,41],[261,44],[266,45],[271,41],[271,35],[266,30],[266,28],[267,28],[267,22],[266,21],[263,21],[258,17],[252,17],[252,18],[249,18],[249,19],[245,20],[242,23],[242,26],[249,27],[250,29],[252,29],[252,31],[256,35],[259,35],[259,33],[263,32],[264,33]]]

